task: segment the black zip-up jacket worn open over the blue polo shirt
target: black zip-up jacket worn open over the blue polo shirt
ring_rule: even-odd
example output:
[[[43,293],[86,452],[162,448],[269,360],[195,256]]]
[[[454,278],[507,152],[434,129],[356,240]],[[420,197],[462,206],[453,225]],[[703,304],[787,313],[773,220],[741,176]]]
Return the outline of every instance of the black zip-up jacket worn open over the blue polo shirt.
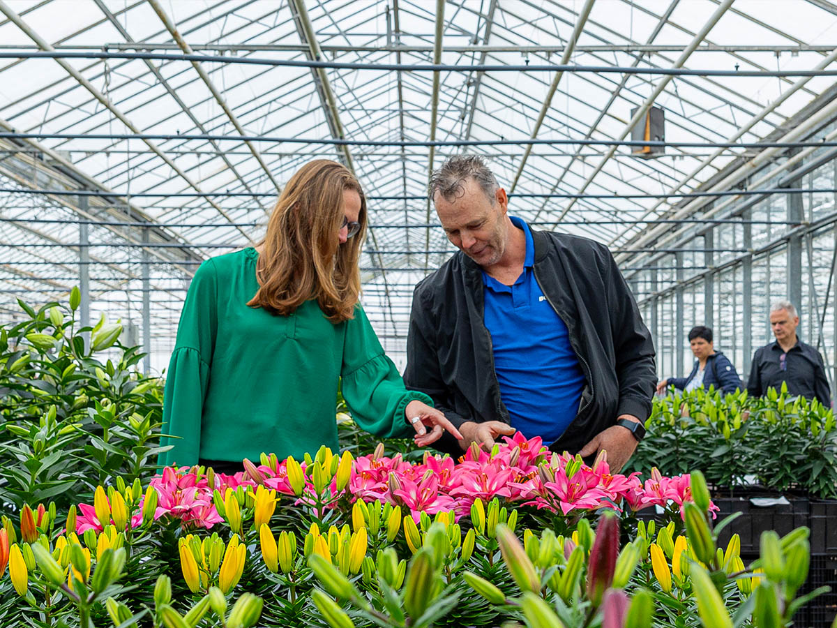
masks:
[[[648,418],[657,380],[654,344],[607,247],[567,234],[534,229],[531,234],[535,277],[567,324],[587,379],[575,420],[551,447],[575,453],[621,414]],[[483,306],[480,266],[461,251],[413,293],[404,382],[429,394],[456,426],[509,422]],[[435,446],[461,454],[447,433]]]

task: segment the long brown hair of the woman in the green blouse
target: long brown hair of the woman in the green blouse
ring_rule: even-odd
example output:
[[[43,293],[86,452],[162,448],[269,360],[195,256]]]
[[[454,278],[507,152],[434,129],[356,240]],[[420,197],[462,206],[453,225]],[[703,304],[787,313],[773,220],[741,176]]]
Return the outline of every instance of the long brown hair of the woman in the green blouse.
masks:
[[[361,197],[361,229],[341,245],[345,190]],[[247,305],[288,316],[316,299],[331,322],[352,318],[361,290],[358,258],[366,214],[361,184],[347,167],[327,159],[306,163],[270,214],[256,264],[259,291]]]

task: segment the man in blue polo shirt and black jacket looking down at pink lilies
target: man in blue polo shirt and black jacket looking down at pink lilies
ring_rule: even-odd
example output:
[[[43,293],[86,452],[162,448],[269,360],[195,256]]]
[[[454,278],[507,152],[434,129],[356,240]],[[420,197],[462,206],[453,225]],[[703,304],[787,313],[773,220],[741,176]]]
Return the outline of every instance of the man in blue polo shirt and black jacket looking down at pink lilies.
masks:
[[[603,245],[530,229],[480,157],[452,157],[430,197],[460,250],[413,294],[408,388],[464,440],[520,430],[552,450],[608,451],[619,470],[644,435],[656,373],[650,333]]]

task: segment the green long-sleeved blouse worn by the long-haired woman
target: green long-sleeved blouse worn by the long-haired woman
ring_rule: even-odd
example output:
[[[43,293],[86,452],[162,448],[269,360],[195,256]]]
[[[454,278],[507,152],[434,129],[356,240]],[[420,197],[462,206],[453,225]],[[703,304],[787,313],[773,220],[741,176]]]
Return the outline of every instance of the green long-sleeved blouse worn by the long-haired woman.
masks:
[[[253,248],[213,257],[189,287],[166,378],[162,439],[174,445],[161,465],[198,459],[280,460],[337,450],[335,402],[343,397],[364,430],[408,436],[404,409],[413,399],[383,353],[362,307],[331,323],[316,301],[287,317],[247,306],[259,289]]]

